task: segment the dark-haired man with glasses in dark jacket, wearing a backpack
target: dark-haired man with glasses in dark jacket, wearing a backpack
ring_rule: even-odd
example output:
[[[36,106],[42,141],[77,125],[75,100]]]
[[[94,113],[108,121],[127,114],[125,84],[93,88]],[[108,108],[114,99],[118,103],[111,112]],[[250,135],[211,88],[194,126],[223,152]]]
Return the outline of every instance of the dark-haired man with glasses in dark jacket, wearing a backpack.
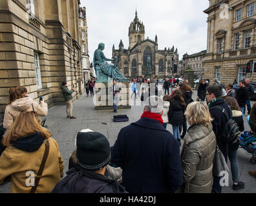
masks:
[[[206,99],[209,102],[209,112],[211,113],[211,117],[213,121],[211,124],[213,125],[213,132],[215,133],[217,145],[219,146],[220,151],[224,155],[226,161],[228,158],[228,144],[222,142],[222,131],[224,130],[224,126],[226,125],[226,117],[224,113],[218,109],[218,107],[224,109],[224,112],[228,114],[229,117],[232,117],[231,109],[228,104],[224,102],[222,96],[222,86],[220,85],[211,85],[206,89]],[[213,176],[213,187],[212,193],[221,193],[222,187],[220,186],[220,177]]]

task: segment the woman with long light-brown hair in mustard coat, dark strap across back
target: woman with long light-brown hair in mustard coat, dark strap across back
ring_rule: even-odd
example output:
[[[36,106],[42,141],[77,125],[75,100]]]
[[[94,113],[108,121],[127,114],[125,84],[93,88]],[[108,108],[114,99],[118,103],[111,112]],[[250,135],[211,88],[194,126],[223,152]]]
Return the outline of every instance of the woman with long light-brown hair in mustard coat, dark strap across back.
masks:
[[[36,116],[35,111],[21,112],[3,139],[0,184],[10,176],[12,192],[51,192],[63,177],[58,144]]]

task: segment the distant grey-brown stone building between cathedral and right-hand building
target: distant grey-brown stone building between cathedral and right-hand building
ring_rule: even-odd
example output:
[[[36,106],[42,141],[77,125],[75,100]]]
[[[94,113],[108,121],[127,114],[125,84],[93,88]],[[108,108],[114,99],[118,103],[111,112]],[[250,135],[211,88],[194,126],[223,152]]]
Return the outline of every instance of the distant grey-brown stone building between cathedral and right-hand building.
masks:
[[[191,69],[194,71],[194,78],[204,78],[204,59],[206,56],[206,50],[183,55],[184,70]]]

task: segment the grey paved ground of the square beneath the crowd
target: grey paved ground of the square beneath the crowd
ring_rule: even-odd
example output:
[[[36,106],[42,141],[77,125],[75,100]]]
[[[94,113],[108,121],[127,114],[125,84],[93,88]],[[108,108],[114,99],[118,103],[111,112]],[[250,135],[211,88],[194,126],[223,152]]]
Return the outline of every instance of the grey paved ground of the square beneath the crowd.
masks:
[[[162,87],[159,86],[162,90]],[[170,89],[171,92],[171,89]],[[193,99],[196,100],[197,91],[193,92]],[[81,129],[92,129],[107,136],[109,142],[114,145],[114,142],[118,136],[118,133],[122,127],[128,126],[132,122],[135,122],[142,115],[143,106],[132,106],[131,109],[118,109],[117,115],[127,115],[129,122],[113,122],[113,116],[116,113],[109,111],[96,111],[92,97],[86,97],[83,95],[80,99],[73,103],[73,115],[76,119],[67,118],[65,112],[65,106],[54,106],[48,109],[48,116],[46,124],[49,127],[52,137],[58,142],[59,151],[63,157],[65,164],[65,172],[68,170],[69,156],[74,151],[74,140],[78,131]],[[251,102],[253,104],[253,102]],[[244,115],[244,127],[246,130],[249,129],[247,115]],[[171,131],[171,125],[167,126],[167,130]],[[182,144],[183,144],[183,140]],[[229,186],[223,187],[222,192],[224,193],[255,193],[256,192],[256,178],[251,177],[248,174],[250,170],[256,170],[255,165],[250,163],[251,154],[247,154],[242,148],[238,151],[239,160],[239,181],[245,183],[245,188],[239,191],[233,191],[232,189],[232,176],[229,173]],[[230,165],[229,165],[230,167]],[[0,186],[0,193],[11,192],[10,183]]]

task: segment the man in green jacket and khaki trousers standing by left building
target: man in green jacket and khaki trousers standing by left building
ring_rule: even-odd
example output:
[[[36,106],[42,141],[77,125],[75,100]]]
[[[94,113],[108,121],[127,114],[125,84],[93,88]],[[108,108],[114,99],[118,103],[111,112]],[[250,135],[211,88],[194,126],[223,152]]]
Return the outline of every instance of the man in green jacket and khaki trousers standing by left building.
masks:
[[[67,82],[62,82],[61,91],[66,102],[67,118],[76,118],[72,115],[72,93],[74,92],[74,88],[69,90],[69,88],[67,88]]]

